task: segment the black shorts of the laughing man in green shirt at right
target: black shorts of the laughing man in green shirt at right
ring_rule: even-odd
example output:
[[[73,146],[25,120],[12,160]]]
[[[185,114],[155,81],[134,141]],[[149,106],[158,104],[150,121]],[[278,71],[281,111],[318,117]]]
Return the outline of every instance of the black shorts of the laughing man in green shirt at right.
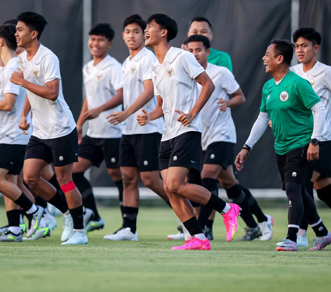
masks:
[[[283,182],[305,185],[312,178],[312,165],[307,160],[308,145],[292,149],[284,155],[277,154],[277,165]]]

